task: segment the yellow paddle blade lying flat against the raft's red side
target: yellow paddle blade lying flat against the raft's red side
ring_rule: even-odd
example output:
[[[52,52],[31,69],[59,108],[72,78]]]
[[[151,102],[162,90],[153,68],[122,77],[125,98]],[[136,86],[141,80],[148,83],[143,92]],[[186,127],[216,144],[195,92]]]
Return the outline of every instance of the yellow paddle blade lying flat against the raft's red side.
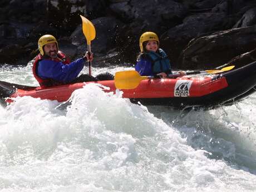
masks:
[[[119,71],[115,73],[115,86],[121,89],[136,88],[141,80],[146,80],[147,76],[140,76],[137,71]]]

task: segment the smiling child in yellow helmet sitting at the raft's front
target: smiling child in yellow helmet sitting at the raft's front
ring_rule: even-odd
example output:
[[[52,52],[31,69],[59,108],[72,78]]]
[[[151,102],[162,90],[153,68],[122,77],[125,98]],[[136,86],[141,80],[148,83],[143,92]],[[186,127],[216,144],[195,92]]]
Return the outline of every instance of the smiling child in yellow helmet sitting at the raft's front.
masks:
[[[154,32],[145,32],[140,36],[140,55],[135,70],[141,76],[168,77],[171,74],[170,61],[164,50],[159,48],[159,38]],[[185,75],[180,71],[180,75]]]

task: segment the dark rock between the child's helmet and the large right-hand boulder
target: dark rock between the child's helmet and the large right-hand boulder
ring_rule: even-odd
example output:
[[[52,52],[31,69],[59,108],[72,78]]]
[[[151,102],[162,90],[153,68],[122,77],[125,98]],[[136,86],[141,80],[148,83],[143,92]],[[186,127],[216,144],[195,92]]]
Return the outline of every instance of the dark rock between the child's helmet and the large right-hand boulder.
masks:
[[[193,38],[230,29],[238,19],[233,16],[225,16],[223,13],[194,14],[186,17],[183,24],[164,33],[160,38],[160,47],[166,51],[175,68],[185,67],[182,62],[178,63],[180,50],[183,50]]]

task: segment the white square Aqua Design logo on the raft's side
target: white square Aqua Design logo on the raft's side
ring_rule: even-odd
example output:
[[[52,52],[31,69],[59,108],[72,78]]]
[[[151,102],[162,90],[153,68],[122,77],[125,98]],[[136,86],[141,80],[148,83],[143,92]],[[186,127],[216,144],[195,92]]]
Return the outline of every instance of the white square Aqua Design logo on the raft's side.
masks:
[[[174,88],[175,97],[188,97],[192,81],[178,80]]]

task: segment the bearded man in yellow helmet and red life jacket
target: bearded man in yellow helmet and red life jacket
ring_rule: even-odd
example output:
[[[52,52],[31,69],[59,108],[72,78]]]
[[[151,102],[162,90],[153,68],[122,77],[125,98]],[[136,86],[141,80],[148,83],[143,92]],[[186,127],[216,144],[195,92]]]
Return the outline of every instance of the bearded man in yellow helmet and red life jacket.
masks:
[[[33,75],[42,88],[82,82],[82,79],[85,78],[81,77],[87,77],[87,81],[97,80],[97,78],[85,74],[77,78],[82,71],[84,62],[93,60],[92,54],[89,55],[86,52],[85,56],[70,62],[67,56],[58,50],[58,42],[52,35],[40,37],[38,49],[40,53],[33,63]]]

